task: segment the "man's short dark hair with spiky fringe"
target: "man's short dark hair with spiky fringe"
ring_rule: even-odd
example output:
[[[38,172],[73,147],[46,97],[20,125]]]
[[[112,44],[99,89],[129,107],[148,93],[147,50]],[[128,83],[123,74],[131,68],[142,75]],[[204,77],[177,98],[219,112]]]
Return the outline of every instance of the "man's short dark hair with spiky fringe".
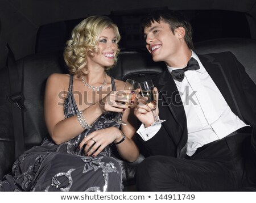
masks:
[[[193,49],[193,40],[192,40],[192,27],[189,21],[185,18],[181,12],[174,10],[156,10],[146,15],[142,19],[142,28],[150,27],[152,23],[160,21],[168,23],[172,33],[175,35],[175,29],[178,27],[183,27],[185,29],[184,40],[188,45],[189,49]]]

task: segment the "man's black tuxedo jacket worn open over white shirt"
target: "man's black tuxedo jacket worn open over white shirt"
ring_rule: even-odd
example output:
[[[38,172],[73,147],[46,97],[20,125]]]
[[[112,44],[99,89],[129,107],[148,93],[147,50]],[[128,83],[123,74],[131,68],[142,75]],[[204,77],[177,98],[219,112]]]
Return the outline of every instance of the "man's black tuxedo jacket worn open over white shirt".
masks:
[[[251,126],[256,118],[256,86],[231,52],[198,55],[233,113]],[[143,142],[148,155],[183,158],[187,152],[187,120],[174,79],[166,69],[153,82],[159,91],[159,117],[166,121]],[[147,155],[146,155],[147,156]]]

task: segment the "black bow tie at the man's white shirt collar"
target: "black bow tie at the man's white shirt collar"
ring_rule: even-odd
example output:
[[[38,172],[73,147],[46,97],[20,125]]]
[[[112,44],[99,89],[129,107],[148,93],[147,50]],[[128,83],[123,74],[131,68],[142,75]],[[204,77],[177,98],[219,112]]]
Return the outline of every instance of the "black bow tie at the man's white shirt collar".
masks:
[[[174,79],[181,82],[185,77],[185,71],[198,69],[200,69],[198,62],[195,60],[195,58],[191,57],[186,67],[184,67],[183,69],[173,70],[171,75]]]

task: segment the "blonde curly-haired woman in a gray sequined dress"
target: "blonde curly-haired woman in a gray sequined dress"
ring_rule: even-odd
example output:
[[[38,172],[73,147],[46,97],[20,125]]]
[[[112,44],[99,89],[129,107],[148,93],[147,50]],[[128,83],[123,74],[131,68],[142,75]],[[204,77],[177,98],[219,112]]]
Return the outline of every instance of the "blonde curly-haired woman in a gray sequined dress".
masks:
[[[117,60],[119,40],[117,26],[103,16],[90,16],[73,29],[64,50],[70,74],[52,74],[46,84],[49,137],[20,155],[0,191],[122,191],[111,145],[129,162],[139,153],[122,103],[130,103],[122,96],[129,92],[105,73]],[[127,125],[120,130],[112,119],[122,111]]]

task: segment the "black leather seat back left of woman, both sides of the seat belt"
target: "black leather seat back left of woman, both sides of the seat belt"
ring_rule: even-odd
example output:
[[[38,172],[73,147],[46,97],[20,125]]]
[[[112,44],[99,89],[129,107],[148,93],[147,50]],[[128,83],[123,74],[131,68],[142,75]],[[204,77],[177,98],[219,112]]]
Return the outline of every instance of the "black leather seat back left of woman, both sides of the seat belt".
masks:
[[[39,145],[47,134],[43,112],[44,88],[50,74],[66,72],[61,56],[59,52],[42,53],[16,61],[26,108],[22,111],[25,150]],[[10,85],[6,66],[0,70],[0,179],[10,172],[15,161],[13,112],[7,99]]]

